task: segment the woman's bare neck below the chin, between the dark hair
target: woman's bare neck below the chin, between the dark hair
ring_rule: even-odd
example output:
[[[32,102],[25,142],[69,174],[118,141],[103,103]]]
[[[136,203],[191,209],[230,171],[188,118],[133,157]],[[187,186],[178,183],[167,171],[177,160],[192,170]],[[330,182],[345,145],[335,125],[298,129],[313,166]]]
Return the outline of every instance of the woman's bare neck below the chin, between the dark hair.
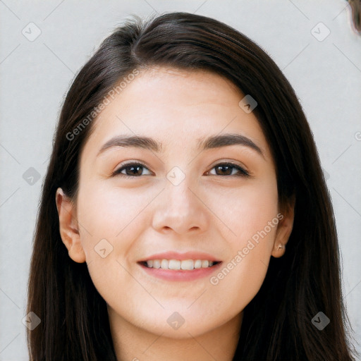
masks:
[[[240,336],[243,312],[198,336],[169,338],[140,329],[111,310],[109,323],[118,361],[232,361]]]

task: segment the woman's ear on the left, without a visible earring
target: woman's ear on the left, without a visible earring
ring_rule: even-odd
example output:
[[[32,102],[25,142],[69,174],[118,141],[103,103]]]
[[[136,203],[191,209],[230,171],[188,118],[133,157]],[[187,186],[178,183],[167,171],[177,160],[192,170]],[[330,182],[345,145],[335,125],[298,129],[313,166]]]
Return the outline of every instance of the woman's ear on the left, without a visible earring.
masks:
[[[80,242],[78,220],[76,219],[75,205],[61,188],[56,190],[56,209],[59,214],[59,231],[61,240],[68,249],[68,254],[73,261],[85,262],[85,252]]]

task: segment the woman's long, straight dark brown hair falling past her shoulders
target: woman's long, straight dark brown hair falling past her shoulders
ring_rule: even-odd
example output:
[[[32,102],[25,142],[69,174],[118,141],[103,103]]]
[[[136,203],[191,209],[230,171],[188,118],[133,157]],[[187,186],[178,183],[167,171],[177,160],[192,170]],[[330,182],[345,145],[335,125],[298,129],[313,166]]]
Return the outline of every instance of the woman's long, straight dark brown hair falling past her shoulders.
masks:
[[[89,115],[124,77],[153,65],[212,71],[251,94],[276,163],[280,203],[295,196],[286,254],[271,257],[261,289],[245,307],[233,360],[354,360],[346,334],[334,213],[298,97],[255,42],[224,23],[190,13],[127,20],[102,42],[66,95],[42,188],[30,266],[27,311],[41,319],[27,334],[30,360],[116,360],[106,302],[87,264],[68,256],[55,194],[61,187],[76,198],[79,156],[92,130]],[[312,323],[318,312],[330,319],[322,330]]]

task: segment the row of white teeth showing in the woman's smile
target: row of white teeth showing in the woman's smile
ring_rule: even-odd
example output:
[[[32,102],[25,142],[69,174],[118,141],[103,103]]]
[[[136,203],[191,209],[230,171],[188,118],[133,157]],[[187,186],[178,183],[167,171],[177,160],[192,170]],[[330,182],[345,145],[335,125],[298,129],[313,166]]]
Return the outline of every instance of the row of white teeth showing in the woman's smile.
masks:
[[[194,271],[197,269],[216,267],[221,261],[210,261],[209,259],[149,259],[149,261],[141,261],[138,263],[149,269]]]

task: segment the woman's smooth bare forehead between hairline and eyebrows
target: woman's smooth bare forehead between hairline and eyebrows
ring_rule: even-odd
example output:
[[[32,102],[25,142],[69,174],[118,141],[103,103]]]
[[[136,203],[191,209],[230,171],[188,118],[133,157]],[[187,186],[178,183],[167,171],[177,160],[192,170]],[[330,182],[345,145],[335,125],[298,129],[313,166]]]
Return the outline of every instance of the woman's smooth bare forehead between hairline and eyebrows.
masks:
[[[209,135],[240,133],[267,154],[257,118],[238,105],[243,97],[233,82],[209,71],[143,70],[113,99],[109,97],[109,104],[93,121],[85,148],[95,143],[101,147],[116,135],[142,135],[159,140],[162,150],[172,145],[196,149]]]

